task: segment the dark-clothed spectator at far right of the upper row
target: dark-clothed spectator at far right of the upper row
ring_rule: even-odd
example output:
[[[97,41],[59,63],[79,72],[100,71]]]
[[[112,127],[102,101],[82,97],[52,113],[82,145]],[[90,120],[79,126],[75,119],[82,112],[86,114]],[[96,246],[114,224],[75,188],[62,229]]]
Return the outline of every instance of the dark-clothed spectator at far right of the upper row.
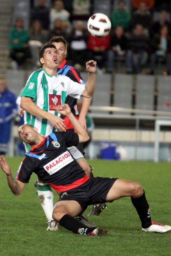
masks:
[[[161,11],[160,12],[160,19],[158,21],[154,22],[153,25],[152,25],[151,35],[154,36],[155,34],[158,34],[159,30],[160,30],[160,27],[164,26],[164,25],[169,27],[169,34],[170,34],[171,24],[169,22],[168,12]]]

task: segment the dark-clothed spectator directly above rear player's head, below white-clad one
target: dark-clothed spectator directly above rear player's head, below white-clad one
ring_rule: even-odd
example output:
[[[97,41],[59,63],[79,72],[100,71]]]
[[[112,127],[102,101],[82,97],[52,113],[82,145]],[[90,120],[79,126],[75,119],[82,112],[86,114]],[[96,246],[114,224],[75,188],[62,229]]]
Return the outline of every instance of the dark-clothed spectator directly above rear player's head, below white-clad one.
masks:
[[[54,28],[50,31],[49,38],[52,38],[53,36],[63,36],[67,40],[67,32],[67,25],[65,22],[62,22],[60,19],[55,19]]]

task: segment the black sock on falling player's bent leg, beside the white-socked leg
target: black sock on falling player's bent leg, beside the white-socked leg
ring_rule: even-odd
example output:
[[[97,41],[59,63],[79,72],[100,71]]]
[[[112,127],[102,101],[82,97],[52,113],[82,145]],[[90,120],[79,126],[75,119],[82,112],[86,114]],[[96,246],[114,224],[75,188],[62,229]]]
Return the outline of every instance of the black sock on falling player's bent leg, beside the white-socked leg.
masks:
[[[74,232],[75,234],[89,234],[95,228],[87,227],[84,224],[80,223],[74,217],[71,217],[68,214],[65,214],[60,220],[59,224],[62,227],[65,227],[67,230]]]

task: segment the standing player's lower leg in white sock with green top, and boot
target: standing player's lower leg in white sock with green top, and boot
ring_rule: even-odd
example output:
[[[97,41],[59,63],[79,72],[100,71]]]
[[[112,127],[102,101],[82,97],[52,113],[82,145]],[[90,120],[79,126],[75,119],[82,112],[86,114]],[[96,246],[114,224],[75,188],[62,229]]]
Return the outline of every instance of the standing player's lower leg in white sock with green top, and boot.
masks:
[[[51,187],[44,182],[38,181],[37,184],[38,199],[43,208],[45,216],[48,220],[47,230],[55,231],[58,229],[58,225],[52,218],[53,206],[54,206],[54,195]]]

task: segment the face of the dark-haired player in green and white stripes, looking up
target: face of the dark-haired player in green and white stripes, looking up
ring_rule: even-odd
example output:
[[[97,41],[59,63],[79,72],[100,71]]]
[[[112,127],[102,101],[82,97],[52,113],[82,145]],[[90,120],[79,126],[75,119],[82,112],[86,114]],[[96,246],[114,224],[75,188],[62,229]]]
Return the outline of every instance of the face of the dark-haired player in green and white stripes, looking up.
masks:
[[[46,48],[43,58],[40,58],[43,67],[56,69],[59,66],[59,54],[55,48]]]

